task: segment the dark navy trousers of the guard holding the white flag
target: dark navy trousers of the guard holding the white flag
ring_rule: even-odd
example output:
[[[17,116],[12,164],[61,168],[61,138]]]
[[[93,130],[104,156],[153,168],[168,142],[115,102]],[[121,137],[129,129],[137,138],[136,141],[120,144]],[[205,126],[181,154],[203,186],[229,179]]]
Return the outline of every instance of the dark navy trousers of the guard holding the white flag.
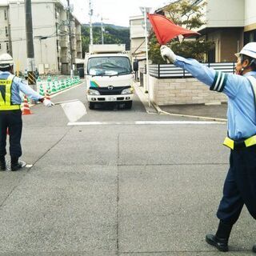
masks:
[[[19,158],[22,155],[22,111],[0,111],[0,157],[6,155],[6,130],[10,135],[10,156]]]

